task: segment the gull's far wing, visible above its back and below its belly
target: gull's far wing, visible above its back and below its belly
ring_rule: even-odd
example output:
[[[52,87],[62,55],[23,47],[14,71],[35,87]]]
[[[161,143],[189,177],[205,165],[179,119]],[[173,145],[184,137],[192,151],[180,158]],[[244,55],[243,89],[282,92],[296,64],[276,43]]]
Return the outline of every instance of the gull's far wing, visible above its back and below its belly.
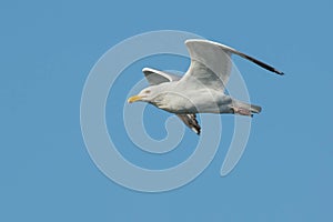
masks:
[[[181,79],[181,77],[179,75],[162,72],[160,70],[151,68],[144,68],[142,72],[144,73],[144,77],[150,84],[179,81]],[[188,125],[192,131],[194,131],[196,134],[200,134],[201,127],[198,123],[195,114],[176,114],[176,117],[179,117],[179,119],[181,119],[181,121],[183,121],[185,125]]]

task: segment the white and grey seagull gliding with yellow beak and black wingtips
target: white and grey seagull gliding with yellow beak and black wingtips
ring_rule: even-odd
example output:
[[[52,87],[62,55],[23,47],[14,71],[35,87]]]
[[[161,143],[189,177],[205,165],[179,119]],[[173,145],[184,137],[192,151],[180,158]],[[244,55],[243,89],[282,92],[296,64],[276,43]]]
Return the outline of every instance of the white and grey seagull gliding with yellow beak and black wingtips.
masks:
[[[224,44],[201,39],[185,41],[191,64],[183,77],[144,68],[150,87],[128,102],[148,102],[159,109],[176,114],[192,131],[200,134],[195,113],[233,113],[253,117],[261,107],[248,104],[224,93],[232,61],[236,54],[255,64],[282,75],[283,72],[245,53]]]

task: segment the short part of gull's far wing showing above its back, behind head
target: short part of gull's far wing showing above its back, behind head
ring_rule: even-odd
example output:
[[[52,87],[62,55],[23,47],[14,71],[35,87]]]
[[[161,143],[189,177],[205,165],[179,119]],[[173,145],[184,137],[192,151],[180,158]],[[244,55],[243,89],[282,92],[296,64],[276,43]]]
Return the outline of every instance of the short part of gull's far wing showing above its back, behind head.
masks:
[[[155,70],[152,68],[143,68],[142,72],[151,85],[152,84],[161,84],[163,82],[178,81],[181,79],[181,77],[179,77],[179,75],[171,74],[168,72],[162,72],[160,70]]]

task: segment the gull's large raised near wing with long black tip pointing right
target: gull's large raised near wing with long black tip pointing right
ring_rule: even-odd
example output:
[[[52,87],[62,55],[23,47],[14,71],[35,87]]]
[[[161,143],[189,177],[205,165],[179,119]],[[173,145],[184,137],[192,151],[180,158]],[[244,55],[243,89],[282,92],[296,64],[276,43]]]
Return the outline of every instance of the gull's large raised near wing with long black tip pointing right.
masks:
[[[278,74],[283,74],[273,67],[224,44],[196,39],[186,40],[185,44],[190,52],[191,65],[180,84],[191,82],[192,88],[206,87],[223,91],[232,69],[232,54],[238,54]],[[186,88],[189,85],[186,84]]]

